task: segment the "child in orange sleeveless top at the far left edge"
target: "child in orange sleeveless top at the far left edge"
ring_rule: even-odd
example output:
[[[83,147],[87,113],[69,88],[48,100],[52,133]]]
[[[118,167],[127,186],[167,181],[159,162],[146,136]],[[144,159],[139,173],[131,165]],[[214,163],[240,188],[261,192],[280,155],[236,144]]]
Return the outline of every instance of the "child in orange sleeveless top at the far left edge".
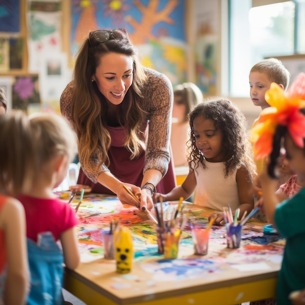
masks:
[[[0,305],[23,305],[29,288],[25,215],[11,197],[33,175],[29,122],[22,112],[0,115]]]

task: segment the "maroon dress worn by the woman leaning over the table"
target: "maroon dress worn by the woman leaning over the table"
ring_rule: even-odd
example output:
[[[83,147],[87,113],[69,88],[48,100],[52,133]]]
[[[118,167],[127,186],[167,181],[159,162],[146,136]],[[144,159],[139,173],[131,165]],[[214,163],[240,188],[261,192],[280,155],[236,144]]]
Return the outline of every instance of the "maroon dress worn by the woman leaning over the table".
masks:
[[[145,164],[145,152],[142,152],[138,158],[130,159],[131,152],[124,147],[124,139],[126,137],[123,127],[108,127],[111,135],[111,146],[108,151],[110,165],[108,169],[120,181],[141,186],[143,179],[143,168]],[[146,133],[146,137],[148,133]],[[171,151],[172,152],[172,151]],[[80,169],[77,180],[78,184],[89,185],[92,192],[114,194],[112,191],[101,185],[92,182]],[[165,176],[156,186],[157,191],[166,194],[176,186],[176,177],[174,173],[172,158],[169,163],[169,169]]]

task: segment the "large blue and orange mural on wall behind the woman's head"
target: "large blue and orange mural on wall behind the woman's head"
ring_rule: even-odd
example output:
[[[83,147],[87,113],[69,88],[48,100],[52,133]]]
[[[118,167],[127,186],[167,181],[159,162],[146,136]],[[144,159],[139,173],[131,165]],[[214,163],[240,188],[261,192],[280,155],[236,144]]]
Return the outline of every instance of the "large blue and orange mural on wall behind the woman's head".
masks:
[[[89,32],[126,28],[145,66],[164,73],[173,84],[186,81],[183,0],[73,0],[71,3],[72,55],[76,55]]]

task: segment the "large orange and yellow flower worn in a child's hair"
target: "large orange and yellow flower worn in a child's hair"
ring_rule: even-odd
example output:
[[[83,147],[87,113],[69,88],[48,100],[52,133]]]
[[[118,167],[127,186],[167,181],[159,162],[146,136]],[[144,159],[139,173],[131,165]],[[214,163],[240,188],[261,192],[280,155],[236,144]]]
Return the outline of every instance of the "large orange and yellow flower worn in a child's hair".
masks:
[[[257,124],[252,129],[252,141],[256,159],[267,157],[272,151],[273,135],[278,125],[287,126],[294,143],[304,147],[305,115],[305,74],[300,74],[291,84],[288,92],[276,83],[271,83],[265,94],[270,107],[262,110]]]

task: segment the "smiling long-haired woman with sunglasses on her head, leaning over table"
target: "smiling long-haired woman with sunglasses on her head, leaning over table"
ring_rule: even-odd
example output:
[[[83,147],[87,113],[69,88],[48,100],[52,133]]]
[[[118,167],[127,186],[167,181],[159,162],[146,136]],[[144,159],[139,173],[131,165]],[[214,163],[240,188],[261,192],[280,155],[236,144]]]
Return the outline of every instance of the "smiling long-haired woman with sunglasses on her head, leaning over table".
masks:
[[[79,184],[135,205],[124,186],[152,208],[152,194],[170,191],[172,84],[144,68],[125,29],[97,30],[79,50],[61,113],[78,137]]]

